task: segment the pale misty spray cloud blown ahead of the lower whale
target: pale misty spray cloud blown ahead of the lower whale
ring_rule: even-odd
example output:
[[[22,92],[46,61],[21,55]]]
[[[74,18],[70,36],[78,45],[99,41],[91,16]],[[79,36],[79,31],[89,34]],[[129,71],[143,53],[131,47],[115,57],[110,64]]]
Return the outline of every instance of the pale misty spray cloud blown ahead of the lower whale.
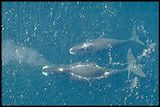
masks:
[[[26,63],[32,66],[44,66],[49,62],[35,49],[15,44],[11,40],[2,41],[2,63],[8,64],[11,61]]]

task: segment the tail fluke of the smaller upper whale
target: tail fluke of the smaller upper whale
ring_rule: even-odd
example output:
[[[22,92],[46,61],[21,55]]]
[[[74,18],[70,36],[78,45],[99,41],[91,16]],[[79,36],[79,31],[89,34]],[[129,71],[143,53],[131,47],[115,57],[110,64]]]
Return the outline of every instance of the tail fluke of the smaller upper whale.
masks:
[[[140,45],[144,45],[144,43],[139,39],[139,36],[137,35],[135,24],[133,25],[132,28],[132,37],[129,40],[134,41]]]

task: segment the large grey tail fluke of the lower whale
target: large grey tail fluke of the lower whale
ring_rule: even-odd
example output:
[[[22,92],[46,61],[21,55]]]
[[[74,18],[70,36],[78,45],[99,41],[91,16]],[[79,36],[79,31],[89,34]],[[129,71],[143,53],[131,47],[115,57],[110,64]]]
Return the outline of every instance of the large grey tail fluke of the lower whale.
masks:
[[[136,60],[130,48],[128,49],[127,53],[127,63],[128,63],[127,67],[128,72],[132,72],[140,77],[146,77],[142,69],[136,64]]]

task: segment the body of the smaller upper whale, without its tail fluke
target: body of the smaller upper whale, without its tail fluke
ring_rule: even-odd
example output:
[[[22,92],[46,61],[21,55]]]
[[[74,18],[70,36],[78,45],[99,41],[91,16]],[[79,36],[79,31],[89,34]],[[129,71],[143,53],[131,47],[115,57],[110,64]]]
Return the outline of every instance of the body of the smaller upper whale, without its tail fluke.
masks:
[[[108,49],[116,45],[127,43],[128,40],[116,40],[110,38],[97,38],[88,42],[80,43],[70,48],[70,54],[94,53],[103,49]]]

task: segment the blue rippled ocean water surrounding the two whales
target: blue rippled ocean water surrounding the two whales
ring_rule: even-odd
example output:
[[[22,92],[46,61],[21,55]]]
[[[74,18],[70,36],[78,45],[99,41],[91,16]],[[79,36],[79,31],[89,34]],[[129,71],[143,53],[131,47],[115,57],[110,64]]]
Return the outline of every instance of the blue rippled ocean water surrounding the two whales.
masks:
[[[157,2],[2,2],[3,105],[158,105]],[[127,40],[133,24],[145,46],[71,55],[99,37]],[[94,62],[125,68],[131,48],[146,78],[120,73],[91,81],[44,76],[47,64]]]

